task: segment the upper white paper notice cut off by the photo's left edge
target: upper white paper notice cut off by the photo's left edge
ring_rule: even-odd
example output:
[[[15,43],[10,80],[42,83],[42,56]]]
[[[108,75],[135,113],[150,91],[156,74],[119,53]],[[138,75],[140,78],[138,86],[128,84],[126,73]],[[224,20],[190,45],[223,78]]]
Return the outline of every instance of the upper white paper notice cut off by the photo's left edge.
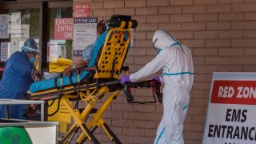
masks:
[[[9,15],[0,14],[0,38],[9,38]]]

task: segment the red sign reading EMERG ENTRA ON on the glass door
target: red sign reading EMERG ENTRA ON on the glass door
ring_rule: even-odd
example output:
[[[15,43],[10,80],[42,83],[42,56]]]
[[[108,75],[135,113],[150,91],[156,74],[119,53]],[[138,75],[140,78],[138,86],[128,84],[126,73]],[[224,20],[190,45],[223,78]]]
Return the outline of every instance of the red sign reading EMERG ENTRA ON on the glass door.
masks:
[[[73,18],[54,18],[54,39],[73,39]]]

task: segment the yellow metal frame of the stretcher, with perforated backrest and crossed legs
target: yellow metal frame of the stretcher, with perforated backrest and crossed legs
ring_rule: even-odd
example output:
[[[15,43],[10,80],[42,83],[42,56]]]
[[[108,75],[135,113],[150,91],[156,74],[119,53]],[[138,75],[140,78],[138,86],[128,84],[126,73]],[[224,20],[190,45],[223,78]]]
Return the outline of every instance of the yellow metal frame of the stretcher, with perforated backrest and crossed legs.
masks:
[[[137,26],[137,22],[135,23]],[[64,106],[66,106],[66,109],[71,114],[71,117],[74,119],[73,126],[71,126],[60,143],[68,142],[69,138],[72,138],[78,129],[82,130],[82,134],[78,137],[77,143],[82,143],[87,138],[94,143],[99,143],[93,134],[98,126],[102,127],[102,130],[106,132],[111,141],[122,143],[103,121],[102,114],[117,97],[119,90],[122,90],[117,79],[129,49],[131,37],[130,28],[133,25],[134,21],[122,21],[119,27],[112,28],[108,32],[94,74],[94,80],[96,80],[96,82],[90,84],[86,83],[81,86],[65,86],[60,89],[54,88],[31,94],[30,99],[47,100],[60,98],[60,101],[63,102]],[[108,92],[110,95],[106,99],[106,102],[92,115],[89,122],[85,122],[85,118],[90,114],[94,105]],[[70,105],[70,99],[72,98],[86,102],[86,107],[82,112],[78,109],[74,109]]]

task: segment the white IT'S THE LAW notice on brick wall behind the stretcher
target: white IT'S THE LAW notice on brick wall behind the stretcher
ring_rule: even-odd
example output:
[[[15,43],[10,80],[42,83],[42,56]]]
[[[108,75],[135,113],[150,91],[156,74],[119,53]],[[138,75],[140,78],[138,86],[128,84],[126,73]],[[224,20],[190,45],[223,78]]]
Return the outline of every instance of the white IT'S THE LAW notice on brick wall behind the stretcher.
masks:
[[[97,18],[74,18],[74,50],[84,50],[96,41]]]

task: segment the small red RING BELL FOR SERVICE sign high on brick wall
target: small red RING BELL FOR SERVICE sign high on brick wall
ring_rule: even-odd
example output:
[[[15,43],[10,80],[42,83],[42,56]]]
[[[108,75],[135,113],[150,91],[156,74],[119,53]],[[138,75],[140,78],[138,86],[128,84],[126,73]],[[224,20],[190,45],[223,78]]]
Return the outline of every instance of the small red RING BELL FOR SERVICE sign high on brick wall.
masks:
[[[89,18],[90,6],[88,4],[74,4],[74,18]]]

